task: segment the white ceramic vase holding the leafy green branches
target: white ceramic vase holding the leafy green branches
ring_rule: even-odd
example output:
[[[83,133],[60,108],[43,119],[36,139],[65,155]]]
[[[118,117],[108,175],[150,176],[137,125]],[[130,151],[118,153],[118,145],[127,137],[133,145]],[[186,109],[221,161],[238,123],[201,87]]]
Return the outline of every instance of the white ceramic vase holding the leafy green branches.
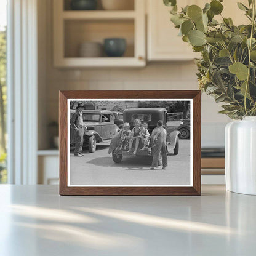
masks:
[[[226,190],[256,195],[256,117],[225,128]]]

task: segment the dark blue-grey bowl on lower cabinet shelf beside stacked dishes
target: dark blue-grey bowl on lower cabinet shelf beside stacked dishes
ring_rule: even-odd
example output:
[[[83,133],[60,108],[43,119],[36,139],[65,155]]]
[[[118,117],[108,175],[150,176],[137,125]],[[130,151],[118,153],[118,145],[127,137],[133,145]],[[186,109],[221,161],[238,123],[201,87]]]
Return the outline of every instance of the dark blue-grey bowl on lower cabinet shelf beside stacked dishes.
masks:
[[[104,50],[109,57],[122,57],[126,51],[126,39],[106,38],[104,40]]]

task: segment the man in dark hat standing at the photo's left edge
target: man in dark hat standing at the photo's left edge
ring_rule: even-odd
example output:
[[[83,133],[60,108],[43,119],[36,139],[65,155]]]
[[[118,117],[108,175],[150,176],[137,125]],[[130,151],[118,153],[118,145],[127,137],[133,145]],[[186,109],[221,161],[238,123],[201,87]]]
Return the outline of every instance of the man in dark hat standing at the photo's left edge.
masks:
[[[84,121],[82,119],[82,110],[84,105],[78,103],[76,107],[76,112],[71,118],[71,127],[74,129],[74,139],[76,146],[74,148],[74,156],[83,156],[82,154],[82,145],[84,144],[84,129],[87,130],[87,127],[84,126]]]

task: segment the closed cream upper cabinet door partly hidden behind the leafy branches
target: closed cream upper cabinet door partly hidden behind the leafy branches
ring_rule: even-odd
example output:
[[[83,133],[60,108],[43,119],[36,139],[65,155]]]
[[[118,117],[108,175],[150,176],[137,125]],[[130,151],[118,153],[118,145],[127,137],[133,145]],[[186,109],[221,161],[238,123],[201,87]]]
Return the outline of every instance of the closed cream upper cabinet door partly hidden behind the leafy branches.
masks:
[[[180,3],[179,3],[180,2]],[[178,7],[197,4],[204,7],[207,0],[183,0],[178,1]],[[247,0],[241,0],[247,6]],[[239,10],[237,3],[233,0],[223,1],[224,5],[223,16],[233,18],[235,25],[248,23],[247,18]],[[172,7],[164,6],[162,0],[147,0],[148,11],[148,60],[191,60],[198,57],[194,54],[191,46],[182,41],[178,36],[178,30],[170,21],[169,10]],[[215,19],[221,20],[220,15],[215,16]]]

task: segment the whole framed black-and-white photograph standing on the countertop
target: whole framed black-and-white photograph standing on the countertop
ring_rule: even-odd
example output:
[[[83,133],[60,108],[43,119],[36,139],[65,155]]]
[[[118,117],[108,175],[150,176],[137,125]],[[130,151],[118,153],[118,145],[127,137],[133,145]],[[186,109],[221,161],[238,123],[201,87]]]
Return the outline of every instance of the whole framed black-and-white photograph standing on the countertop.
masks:
[[[59,118],[61,195],[201,194],[201,91],[61,91]]]

